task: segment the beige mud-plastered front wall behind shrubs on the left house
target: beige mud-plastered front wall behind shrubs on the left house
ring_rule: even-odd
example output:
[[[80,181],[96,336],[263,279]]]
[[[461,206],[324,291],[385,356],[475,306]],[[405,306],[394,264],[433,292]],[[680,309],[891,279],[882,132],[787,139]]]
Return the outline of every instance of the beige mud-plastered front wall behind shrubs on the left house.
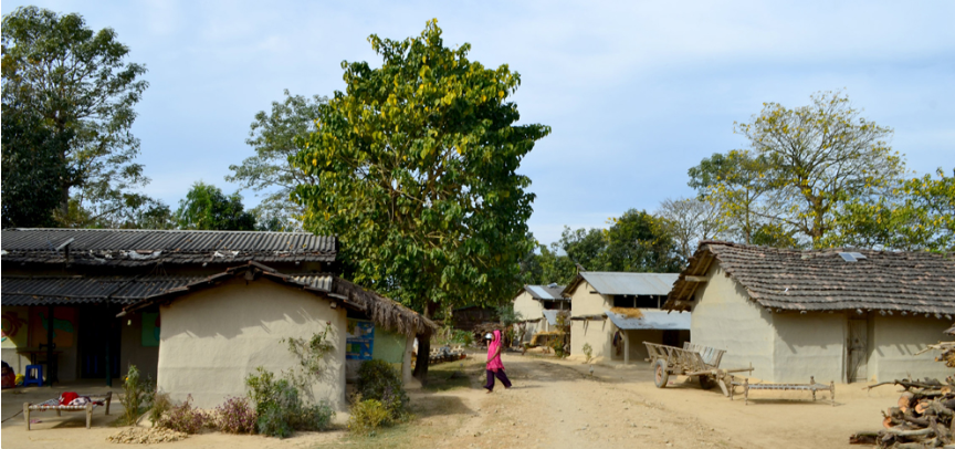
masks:
[[[313,393],[316,400],[327,399],[344,409],[343,307],[332,309],[323,297],[267,280],[246,285],[235,279],[180,297],[160,313],[158,387],[176,400],[191,394],[200,408],[245,395],[245,376],[259,366],[276,374],[297,366],[297,358],[280,341],[309,338],[330,322],[335,349]]]

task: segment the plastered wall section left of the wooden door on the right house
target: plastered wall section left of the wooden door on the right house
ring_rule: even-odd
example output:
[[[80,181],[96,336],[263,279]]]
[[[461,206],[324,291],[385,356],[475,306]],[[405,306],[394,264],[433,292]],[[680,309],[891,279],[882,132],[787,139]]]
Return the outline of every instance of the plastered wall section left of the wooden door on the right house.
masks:
[[[806,384],[815,376],[817,382],[827,384],[846,380],[843,361],[848,327],[844,314],[775,313],[773,324],[776,331],[773,374],[765,379]]]

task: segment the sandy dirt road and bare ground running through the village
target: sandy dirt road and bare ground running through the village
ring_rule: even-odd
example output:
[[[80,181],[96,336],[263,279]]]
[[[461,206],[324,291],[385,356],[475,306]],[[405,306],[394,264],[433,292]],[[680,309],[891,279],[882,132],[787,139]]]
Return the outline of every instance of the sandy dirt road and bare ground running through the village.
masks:
[[[514,388],[505,390],[499,384],[494,393],[485,394],[482,358],[475,354],[463,363],[433,366],[429,387],[410,391],[417,418],[371,438],[348,436],[347,416],[339,414],[342,429],[335,431],[302,432],[285,440],[207,432],[161,447],[849,448],[849,435],[878,428],[879,410],[898,397],[891,387],[863,394],[858,385],[837,385],[836,407],[828,395],[820,394],[820,400],[812,403],[808,393],[764,394],[744,406],[682,378],[668,388],[654,388],[646,364],[595,366],[591,376],[580,363],[515,354],[504,355]],[[3,393],[4,418],[8,409],[15,411],[8,401],[22,404],[22,398]],[[30,432],[20,417],[4,422],[2,446],[116,448],[106,437],[119,429],[109,427],[107,417],[94,418],[91,430],[83,428],[78,415],[43,420]]]

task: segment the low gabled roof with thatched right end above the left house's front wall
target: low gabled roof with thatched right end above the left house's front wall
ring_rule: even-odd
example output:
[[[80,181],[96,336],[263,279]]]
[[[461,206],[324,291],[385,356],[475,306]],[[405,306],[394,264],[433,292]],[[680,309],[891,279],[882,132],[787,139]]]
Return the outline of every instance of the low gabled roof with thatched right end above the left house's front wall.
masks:
[[[417,312],[334,274],[283,274],[271,267],[258,262],[248,262],[239,267],[232,267],[222,273],[206,278],[190,278],[188,283],[180,283],[174,289],[161,292],[154,291],[149,297],[144,297],[134,304],[123,307],[123,314],[155,304],[169,303],[183,294],[213,288],[221,282],[240,275],[250,281],[261,276],[273,282],[326,296],[332,301],[340,302],[344,307],[367,314],[376,325],[408,336],[430,334],[438,328],[438,325],[431,320],[421,316]]]

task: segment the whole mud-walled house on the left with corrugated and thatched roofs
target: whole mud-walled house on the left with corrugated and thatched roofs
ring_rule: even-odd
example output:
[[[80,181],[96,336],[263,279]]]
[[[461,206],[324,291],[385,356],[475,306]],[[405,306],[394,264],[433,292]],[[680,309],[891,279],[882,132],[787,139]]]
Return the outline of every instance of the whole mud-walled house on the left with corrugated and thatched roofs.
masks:
[[[336,257],[336,239],[302,232],[3,230],[2,357],[18,373],[41,362],[60,382],[135,364],[209,408],[243,396],[260,366],[297,366],[287,338],[327,327],[335,348],[312,390],[342,408],[361,361],[410,380],[414,336],[435,325],[338,278]]]

